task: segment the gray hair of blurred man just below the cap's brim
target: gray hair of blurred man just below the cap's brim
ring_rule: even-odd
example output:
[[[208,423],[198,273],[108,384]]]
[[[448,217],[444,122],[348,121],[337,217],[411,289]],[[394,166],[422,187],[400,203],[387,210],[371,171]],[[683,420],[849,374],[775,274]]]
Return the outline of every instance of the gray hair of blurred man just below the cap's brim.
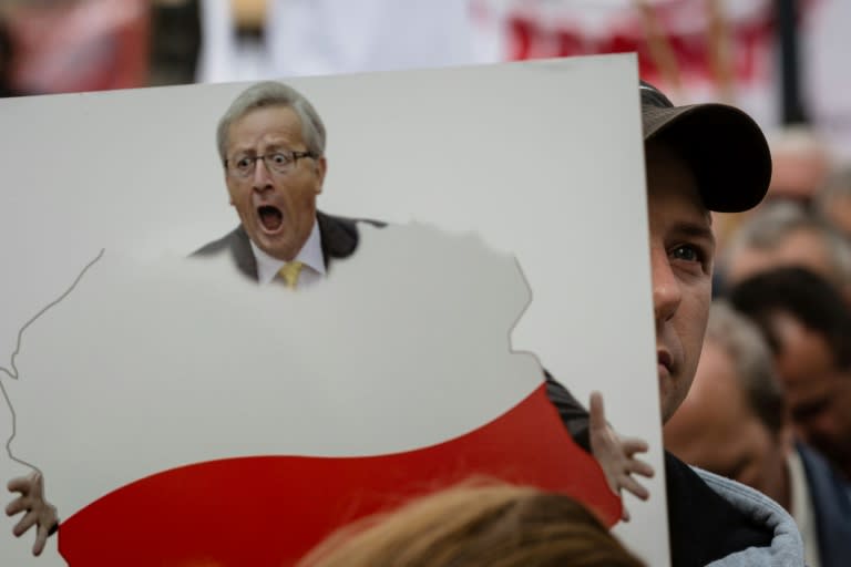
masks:
[[[771,250],[798,230],[813,233],[824,244],[828,260],[839,279],[835,284],[851,282],[851,244],[824,219],[789,200],[761,205],[735,233],[725,259],[729,261],[731,256],[746,248]]]

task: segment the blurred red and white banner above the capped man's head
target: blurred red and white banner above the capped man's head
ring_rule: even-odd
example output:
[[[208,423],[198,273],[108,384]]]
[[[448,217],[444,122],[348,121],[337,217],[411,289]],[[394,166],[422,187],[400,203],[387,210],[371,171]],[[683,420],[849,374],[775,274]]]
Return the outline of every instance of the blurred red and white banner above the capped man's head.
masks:
[[[504,58],[638,54],[639,73],[678,102],[745,104],[773,95],[772,0],[473,0],[478,21],[498,20]],[[799,2],[802,19],[824,0]]]

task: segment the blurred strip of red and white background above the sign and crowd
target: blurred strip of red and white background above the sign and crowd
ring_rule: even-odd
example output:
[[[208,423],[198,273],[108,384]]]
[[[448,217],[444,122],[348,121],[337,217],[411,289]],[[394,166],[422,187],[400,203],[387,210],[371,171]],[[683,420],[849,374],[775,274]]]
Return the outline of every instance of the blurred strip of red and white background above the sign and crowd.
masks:
[[[635,51],[642,75],[676,102],[731,102],[771,132],[809,125],[832,157],[849,157],[850,4],[2,0],[0,90],[62,93]],[[800,128],[793,134],[802,137]]]

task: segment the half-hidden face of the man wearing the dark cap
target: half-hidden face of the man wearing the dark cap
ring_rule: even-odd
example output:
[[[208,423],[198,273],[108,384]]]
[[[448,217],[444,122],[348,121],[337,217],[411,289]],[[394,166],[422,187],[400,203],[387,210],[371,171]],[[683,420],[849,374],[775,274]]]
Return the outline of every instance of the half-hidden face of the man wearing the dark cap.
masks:
[[[688,393],[700,358],[715,238],[686,163],[655,143],[646,152],[656,357],[666,422]]]

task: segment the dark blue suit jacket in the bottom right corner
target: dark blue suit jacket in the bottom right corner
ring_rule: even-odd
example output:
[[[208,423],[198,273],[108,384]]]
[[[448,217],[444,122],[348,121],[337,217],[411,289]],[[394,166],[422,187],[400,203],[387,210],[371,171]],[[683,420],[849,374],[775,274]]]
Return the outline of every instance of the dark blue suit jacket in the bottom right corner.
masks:
[[[816,514],[821,567],[851,565],[851,487],[823,456],[798,444]]]

